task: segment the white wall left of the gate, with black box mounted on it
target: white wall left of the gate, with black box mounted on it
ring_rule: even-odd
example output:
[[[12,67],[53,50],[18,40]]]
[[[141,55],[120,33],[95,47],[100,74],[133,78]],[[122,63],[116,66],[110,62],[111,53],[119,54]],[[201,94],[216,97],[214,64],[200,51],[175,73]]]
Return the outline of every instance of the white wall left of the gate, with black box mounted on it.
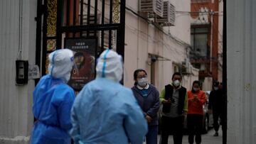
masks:
[[[30,64],[35,62],[36,1],[21,0],[22,16],[19,15],[19,2],[0,1],[0,143],[28,143],[33,125],[31,101],[34,82],[29,80],[24,86],[16,86],[15,60],[21,46],[23,60]],[[18,43],[19,38],[21,43]]]

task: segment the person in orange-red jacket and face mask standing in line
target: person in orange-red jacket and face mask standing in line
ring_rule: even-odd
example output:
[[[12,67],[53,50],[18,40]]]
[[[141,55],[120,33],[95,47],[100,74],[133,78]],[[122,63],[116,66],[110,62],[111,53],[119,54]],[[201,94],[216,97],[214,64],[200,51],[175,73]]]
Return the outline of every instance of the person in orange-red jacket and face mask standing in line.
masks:
[[[196,144],[201,143],[201,130],[203,128],[203,104],[206,103],[206,94],[200,89],[200,82],[194,81],[192,90],[188,91],[188,143],[193,144],[196,135]]]

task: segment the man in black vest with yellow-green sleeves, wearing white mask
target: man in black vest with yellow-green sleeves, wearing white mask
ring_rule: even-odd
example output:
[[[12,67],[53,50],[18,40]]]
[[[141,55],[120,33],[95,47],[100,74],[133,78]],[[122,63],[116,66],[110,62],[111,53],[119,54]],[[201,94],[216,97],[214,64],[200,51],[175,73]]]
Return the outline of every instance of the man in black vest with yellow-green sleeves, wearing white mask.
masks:
[[[181,73],[175,72],[171,84],[161,91],[163,104],[161,113],[161,144],[167,144],[169,134],[174,135],[174,144],[181,144],[183,138],[183,121],[188,111],[186,88],[181,86]]]

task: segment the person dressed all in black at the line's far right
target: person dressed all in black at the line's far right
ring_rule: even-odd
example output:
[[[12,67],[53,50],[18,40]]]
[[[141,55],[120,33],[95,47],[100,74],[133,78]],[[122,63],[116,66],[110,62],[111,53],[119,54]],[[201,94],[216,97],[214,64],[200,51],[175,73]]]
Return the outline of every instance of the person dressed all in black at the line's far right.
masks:
[[[222,114],[224,110],[223,89],[220,89],[219,82],[213,82],[213,90],[210,92],[209,96],[208,110],[210,113],[213,113],[213,128],[215,130],[213,136],[218,136],[220,121],[223,118]]]

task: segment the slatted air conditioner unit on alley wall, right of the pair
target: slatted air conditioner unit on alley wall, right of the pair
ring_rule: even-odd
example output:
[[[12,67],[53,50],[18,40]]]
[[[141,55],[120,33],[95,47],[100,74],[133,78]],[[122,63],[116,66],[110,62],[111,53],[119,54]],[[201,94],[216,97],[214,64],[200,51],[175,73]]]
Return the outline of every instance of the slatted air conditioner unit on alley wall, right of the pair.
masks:
[[[156,22],[161,23],[162,26],[175,25],[175,6],[169,1],[164,1],[164,15],[163,17],[156,17]]]

